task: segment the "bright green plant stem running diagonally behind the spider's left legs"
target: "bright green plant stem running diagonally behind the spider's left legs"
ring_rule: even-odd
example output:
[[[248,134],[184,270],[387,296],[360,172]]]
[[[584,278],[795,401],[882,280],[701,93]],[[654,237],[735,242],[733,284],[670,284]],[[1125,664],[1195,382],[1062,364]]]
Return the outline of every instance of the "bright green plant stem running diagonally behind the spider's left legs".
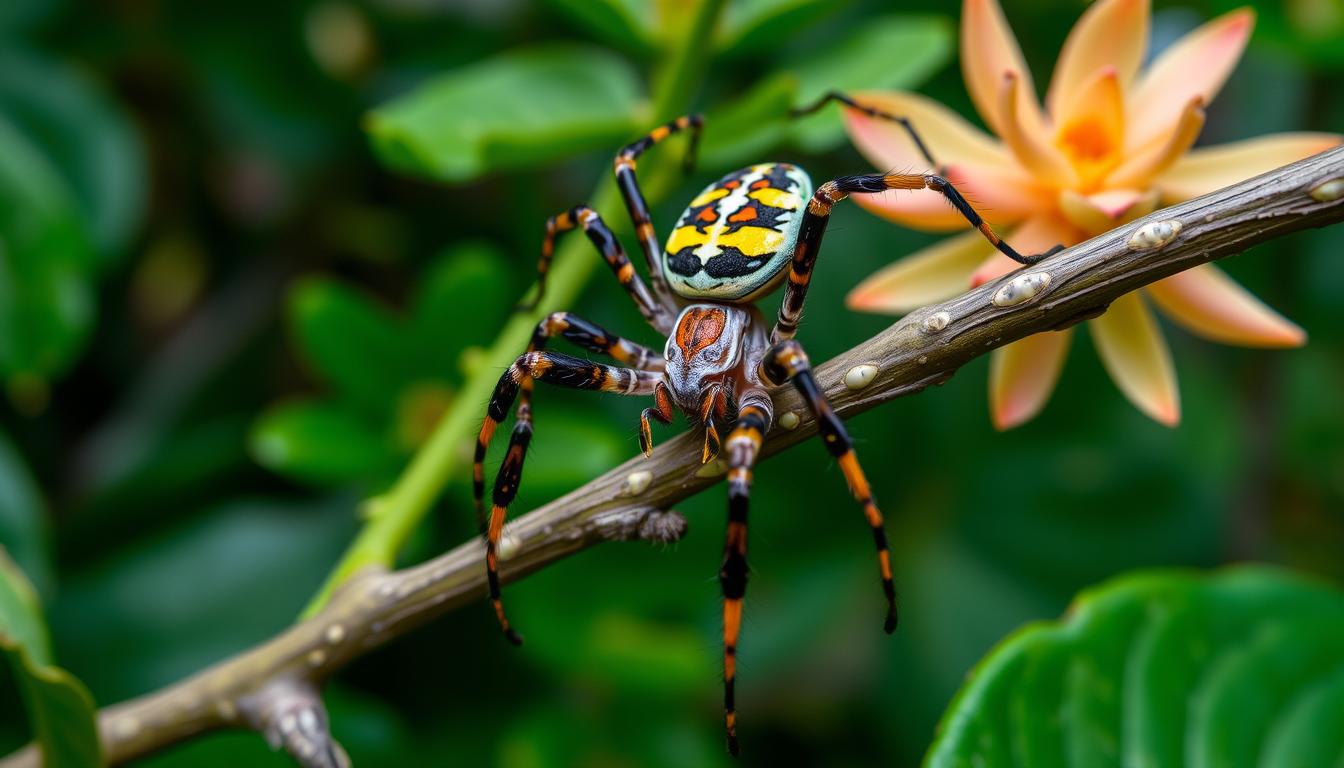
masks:
[[[652,122],[669,120],[687,110],[695,85],[700,81],[707,63],[706,46],[722,9],[723,0],[698,3],[685,38],[672,51],[659,77],[653,93]],[[648,169],[642,174],[645,192],[650,199],[660,198],[671,186],[673,163],[665,161],[668,155],[665,152],[648,163]],[[628,217],[616,184],[610,180],[597,188],[589,204],[613,226],[617,234],[628,233]],[[458,391],[456,398],[458,406],[444,414],[396,483],[387,492],[367,502],[364,527],[304,609],[304,617],[320,611],[336,588],[359,570],[392,566],[396,554],[434,506],[439,492],[469,460],[470,445],[480,426],[481,409],[491,397],[499,371],[527,347],[532,328],[540,317],[558,308],[573,305],[598,262],[598,256],[585,238],[570,237],[563,241],[547,276],[546,299],[536,309],[520,312],[505,323],[485,354],[484,362],[472,371]]]

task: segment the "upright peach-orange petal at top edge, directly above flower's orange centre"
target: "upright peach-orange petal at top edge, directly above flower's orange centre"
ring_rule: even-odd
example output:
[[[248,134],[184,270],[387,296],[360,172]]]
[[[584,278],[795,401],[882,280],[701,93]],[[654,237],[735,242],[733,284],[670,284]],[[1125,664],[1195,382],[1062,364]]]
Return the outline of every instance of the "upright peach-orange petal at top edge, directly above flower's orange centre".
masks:
[[[1148,50],[1149,0],[1098,0],[1074,24],[1059,51],[1055,74],[1046,91],[1046,110],[1058,120],[1105,66],[1116,67],[1120,85],[1129,87]]]

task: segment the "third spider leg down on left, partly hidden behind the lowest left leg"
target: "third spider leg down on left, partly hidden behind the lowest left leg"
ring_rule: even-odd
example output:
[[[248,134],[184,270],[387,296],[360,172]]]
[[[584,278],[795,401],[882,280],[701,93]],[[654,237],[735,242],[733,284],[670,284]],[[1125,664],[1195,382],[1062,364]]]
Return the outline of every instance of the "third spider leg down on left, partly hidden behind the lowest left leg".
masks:
[[[527,344],[527,351],[539,352],[544,350],[547,340],[555,336],[560,336],[585,350],[607,355],[617,362],[641,371],[661,371],[665,364],[663,355],[653,350],[622,339],[597,323],[590,323],[569,312],[552,312],[543,317],[532,331],[532,340]],[[519,382],[516,418],[524,418],[524,413],[531,416],[531,412],[532,379],[531,377],[526,377]],[[671,421],[671,417],[672,414],[668,413],[668,421]],[[487,424],[489,424],[488,416]],[[491,425],[489,432],[487,432],[485,426],[481,428],[481,433],[476,438],[476,456],[472,460],[472,500],[476,503],[476,525],[481,535],[485,534],[485,507],[482,503],[485,498],[485,451],[489,448],[493,432],[495,425]]]

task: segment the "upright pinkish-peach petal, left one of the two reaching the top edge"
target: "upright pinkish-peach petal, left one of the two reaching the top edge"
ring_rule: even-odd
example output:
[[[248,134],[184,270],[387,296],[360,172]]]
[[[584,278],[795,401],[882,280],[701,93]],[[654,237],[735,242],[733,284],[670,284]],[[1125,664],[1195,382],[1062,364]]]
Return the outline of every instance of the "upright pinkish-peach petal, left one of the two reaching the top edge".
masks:
[[[1016,94],[1016,108],[1028,132],[1035,136],[1044,133],[1046,118],[1036,102],[1036,86],[1031,81],[1031,70],[1021,58],[1017,38],[1013,36],[1004,19],[999,0],[964,0],[961,5],[961,74],[966,90],[976,104],[980,117],[995,133],[1003,133],[999,86],[1004,73],[1013,71],[1021,77],[1024,87]]]

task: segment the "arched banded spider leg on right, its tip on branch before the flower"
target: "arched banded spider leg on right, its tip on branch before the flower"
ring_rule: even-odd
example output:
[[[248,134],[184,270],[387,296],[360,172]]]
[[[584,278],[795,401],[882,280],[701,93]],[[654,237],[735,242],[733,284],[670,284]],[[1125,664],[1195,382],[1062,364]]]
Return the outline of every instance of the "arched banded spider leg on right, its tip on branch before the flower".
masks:
[[[970,207],[966,198],[952,186],[952,182],[933,174],[868,174],[860,176],[841,176],[817,187],[808,200],[808,213],[802,217],[802,229],[798,231],[798,243],[793,249],[793,261],[789,264],[789,280],[784,286],[784,301],[780,304],[780,316],[774,330],[770,331],[770,342],[778,343],[792,339],[798,331],[798,319],[802,316],[802,303],[808,297],[808,285],[812,282],[812,268],[817,262],[821,250],[821,237],[831,222],[831,208],[840,200],[855,192],[884,192],[887,190],[933,190],[948,198],[957,211],[965,217],[970,226],[980,230],[1000,253],[1017,264],[1036,264],[1047,256],[1055,254],[1063,246],[1055,246],[1046,253],[1023,256],[1013,250],[989,226],[976,208]]]

